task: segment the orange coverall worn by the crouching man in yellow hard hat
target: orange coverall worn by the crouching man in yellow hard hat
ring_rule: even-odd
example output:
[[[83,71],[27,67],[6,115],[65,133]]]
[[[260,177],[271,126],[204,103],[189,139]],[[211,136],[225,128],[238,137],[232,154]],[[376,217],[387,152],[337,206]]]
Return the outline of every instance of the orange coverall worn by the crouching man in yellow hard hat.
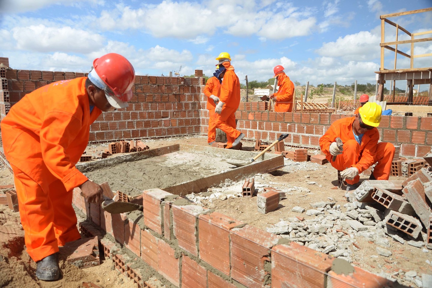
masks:
[[[339,171],[349,167],[359,169],[359,174],[378,162],[374,168],[374,177],[377,180],[388,180],[391,171],[391,161],[394,157],[394,145],[388,142],[378,143],[378,129],[367,130],[362,138],[362,144],[354,138],[353,122],[356,117],[347,117],[336,120],[330,128],[320,138],[321,151],[326,154],[326,158],[331,165]],[[343,142],[343,154],[337,155],[333,162],[333,155],[330,154],[330,144],[340,137]],[[359,182],[360,176],[353,180],[346,180],[348,184]]]

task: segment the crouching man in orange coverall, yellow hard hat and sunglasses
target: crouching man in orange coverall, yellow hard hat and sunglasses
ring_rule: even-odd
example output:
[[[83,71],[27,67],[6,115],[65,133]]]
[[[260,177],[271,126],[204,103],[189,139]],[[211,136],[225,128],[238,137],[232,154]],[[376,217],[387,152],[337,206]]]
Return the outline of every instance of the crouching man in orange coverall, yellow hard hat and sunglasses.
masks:
[[[381,106],[367,102],[359,109],[355,117],[336,120],[320,138],[321,151],[331,165],[341,171],[346,180],[346,190],[358,187],[359,173],[378,162],[370,180],[388,180],[391,161],[394,157],[394,145],[379,142],[378,127],[381,121]],[[335,139],[340,137],[343,149],[339,149]],[[333,156],[337,156],[333,161]]]

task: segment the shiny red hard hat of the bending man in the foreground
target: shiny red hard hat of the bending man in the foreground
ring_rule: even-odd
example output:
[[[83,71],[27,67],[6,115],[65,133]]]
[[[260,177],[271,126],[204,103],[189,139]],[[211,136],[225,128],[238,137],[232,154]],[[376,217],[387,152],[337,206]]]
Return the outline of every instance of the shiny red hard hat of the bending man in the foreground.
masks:
[[[127,107],[127,101],[132,98],[132,86],[135,83],[135,70],[132,64],[120,54],[108,53],[96,58],[93,61],[93,67],[88,77],[93,84],[105,90],[111,106]],[[100,87],[101,85],[104,87]],[[111,91],[107,91],[107,87]]]

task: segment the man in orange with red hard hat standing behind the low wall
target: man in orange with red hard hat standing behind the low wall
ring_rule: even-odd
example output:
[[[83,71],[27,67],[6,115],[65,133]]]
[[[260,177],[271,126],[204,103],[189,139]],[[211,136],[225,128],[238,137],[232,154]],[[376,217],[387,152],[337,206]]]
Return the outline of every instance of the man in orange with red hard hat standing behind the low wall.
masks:
[[[273,68],[274,76],[277,79],[279,90],[276,93],[270,94],[269,98],[275,101],[275,112],[291,112],[292,111],[292,96],[294,95],[294,84],[283,71],[282,65],[277,65]]]

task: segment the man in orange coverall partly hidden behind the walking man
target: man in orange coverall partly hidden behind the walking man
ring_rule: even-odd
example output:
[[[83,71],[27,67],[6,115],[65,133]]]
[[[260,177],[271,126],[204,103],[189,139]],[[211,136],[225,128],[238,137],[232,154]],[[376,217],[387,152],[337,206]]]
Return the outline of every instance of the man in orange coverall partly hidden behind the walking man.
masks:
[[[210,77],[206,82],[204,88],[204,95],[207,96],[207,110],[209,111],[209,128],[207,132],[207,143],[212,145],[216,142],[216,104],[219,102],[220,86],[222,84],[222,78],[225,74],[224,66],[216,66],[216,72],[213,73],[213,77]]]

